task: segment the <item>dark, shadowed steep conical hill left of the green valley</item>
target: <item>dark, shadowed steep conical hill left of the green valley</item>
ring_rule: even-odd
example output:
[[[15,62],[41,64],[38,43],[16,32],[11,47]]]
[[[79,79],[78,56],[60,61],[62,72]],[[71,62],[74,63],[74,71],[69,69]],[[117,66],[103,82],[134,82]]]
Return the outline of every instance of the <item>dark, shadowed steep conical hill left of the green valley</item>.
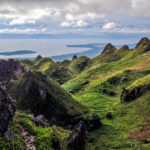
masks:
[[[8,89],[19,109],[43,114],[48,120],[56,118],[62,126],[85,121],[88,129],[100,125],[99,118],[74,100],[57,83],[39,72],[28,72]]]

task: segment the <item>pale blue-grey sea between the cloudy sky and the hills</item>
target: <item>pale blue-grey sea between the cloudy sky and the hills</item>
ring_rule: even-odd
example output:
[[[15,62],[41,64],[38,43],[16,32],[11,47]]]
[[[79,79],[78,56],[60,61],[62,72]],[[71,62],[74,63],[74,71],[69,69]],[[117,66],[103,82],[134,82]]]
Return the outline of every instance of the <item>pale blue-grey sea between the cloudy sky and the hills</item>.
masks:
[[[0,55],[0,59],[19,58],[30,59],[36,58],[38,55],[43,57],[52,57],[66,55],[72,53],[83,53],[93,50],[94,46],[99,50],[99,53],[107,43],[112,43],[115,46],[134,45],[135,41],[131,40],[113,40],[113,39],[0,39],[0,53],[13,52],[20,50],[31,50],[36,53],[23,55]],[[93,46],[91,49],[91,45]],[[99,48],[99,49],[98,49]]]

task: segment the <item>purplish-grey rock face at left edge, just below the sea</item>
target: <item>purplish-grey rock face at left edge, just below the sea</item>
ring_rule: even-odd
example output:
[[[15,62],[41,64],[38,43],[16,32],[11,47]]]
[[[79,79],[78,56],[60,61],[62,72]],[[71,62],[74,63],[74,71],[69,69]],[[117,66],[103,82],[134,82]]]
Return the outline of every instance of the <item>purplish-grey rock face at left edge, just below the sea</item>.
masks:
[[[0,81],[16,80],[24,72],[24,67],[18,61],[0,60]]]

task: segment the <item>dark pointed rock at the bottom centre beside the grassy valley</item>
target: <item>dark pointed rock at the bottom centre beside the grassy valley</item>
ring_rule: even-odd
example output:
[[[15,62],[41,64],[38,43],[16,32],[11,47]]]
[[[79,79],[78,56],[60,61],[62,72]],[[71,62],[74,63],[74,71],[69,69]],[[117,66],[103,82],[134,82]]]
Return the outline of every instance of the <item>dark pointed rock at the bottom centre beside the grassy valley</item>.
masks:
[[[85,150],[86,129],[83,121],[74,128],[68,140],[68,150]]]

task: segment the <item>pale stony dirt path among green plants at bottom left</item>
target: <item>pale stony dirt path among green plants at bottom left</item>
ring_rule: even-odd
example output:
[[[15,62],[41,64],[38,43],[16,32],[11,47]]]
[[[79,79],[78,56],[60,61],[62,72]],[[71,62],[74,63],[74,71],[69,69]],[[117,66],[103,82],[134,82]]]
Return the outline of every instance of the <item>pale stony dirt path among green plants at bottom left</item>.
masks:
[[[25,150],[36,150],[34,136],[30,135],[23,127],[21,129],[21,134],[24,138]]]

